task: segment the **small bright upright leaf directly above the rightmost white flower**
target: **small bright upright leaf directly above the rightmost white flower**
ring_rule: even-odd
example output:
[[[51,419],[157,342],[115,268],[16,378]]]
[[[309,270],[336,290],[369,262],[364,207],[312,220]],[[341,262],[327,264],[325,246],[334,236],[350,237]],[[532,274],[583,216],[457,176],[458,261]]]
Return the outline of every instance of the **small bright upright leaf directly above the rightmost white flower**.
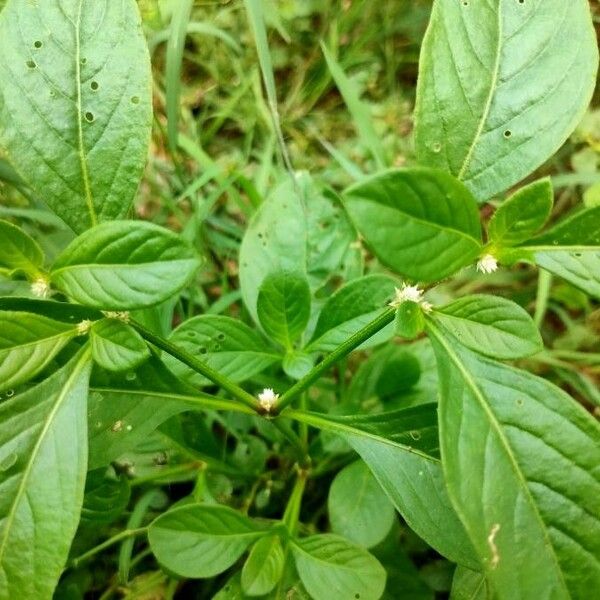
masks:
[[[488,228],[490,241],[500,246],[515,246],[529,240],[546,224],[553,203],[549,178],[521,188],[494,213]]]

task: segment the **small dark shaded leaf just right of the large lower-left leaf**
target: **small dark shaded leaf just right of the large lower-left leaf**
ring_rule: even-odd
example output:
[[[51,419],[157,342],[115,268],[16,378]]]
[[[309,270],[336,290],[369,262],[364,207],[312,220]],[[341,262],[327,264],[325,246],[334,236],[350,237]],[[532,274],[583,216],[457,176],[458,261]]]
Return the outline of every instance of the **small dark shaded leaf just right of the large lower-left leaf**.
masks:
[[[111,523],[125,512],[131,487],[124,475],[108,476],[106,469],[88,473],[81,519],[92,523]]]

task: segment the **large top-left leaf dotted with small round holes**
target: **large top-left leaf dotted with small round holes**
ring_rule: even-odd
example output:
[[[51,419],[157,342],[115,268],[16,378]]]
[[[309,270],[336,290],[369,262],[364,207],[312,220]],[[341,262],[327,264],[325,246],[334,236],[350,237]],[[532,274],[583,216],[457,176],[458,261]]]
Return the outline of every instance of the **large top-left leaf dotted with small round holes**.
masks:
[[[0,148],[77,232],[124,217],[146,162],[150,60],[134,0],[11,0]]]

